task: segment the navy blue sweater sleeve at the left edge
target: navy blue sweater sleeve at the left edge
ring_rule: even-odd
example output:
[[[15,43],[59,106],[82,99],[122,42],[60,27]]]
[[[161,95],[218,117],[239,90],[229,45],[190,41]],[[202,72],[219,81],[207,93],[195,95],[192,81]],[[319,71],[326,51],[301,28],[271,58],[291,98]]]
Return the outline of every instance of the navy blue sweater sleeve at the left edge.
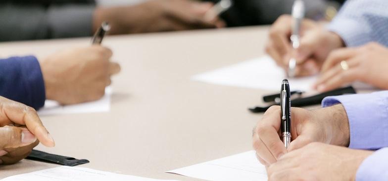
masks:
[[[34,109],[45,105],[45,82],[36,57],[0,59],[0,96]]]

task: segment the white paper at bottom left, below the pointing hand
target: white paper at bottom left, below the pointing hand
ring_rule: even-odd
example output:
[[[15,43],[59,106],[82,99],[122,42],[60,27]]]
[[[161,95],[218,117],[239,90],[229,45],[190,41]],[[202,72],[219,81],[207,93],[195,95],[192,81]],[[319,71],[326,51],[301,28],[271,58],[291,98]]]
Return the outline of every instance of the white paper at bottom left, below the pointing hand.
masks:
[[[7,177],[1,181],[166,181],[103,172],[82,167],[61,166],[28,174]]]

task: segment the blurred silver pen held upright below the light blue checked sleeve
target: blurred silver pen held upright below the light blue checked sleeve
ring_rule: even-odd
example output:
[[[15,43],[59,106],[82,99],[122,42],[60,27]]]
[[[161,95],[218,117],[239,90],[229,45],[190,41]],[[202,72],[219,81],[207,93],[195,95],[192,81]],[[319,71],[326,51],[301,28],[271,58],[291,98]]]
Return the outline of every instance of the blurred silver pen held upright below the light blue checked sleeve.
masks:
[[[299,32],[300,32],[300,24],[304,18],[304,2],[303,0],[295,0],[292,5],[292,35],[290,37],[291,44],[293,49],[297,49],[299,47]],[[289,62],[289,77],[295,76],[295,67],[296,67],[296,59],[292,57]]]

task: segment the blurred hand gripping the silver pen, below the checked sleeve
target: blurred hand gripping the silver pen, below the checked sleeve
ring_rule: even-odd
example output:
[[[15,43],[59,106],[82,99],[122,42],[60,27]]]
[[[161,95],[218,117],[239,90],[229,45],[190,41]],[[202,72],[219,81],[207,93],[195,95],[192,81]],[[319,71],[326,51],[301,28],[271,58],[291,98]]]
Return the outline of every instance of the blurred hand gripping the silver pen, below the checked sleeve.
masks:
[[[292,17],[282,15],[272,25],[266,52],[277,65],[288,71],[291,57],[295,57],[296,76],[313,75],[319,72],[330,51],[342,47],[342,39],[335,33],[325,30],[322,24],[305,19],[301,23],[300,45],[293,50],[290,42]]]

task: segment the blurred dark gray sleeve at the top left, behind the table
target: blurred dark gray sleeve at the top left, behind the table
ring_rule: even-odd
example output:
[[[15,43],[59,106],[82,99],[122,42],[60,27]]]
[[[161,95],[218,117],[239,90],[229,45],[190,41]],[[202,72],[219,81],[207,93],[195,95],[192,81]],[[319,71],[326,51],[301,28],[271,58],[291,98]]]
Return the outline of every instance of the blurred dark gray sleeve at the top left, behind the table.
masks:
[[[0,41],[90,36],[94,4],[0,5]]]

